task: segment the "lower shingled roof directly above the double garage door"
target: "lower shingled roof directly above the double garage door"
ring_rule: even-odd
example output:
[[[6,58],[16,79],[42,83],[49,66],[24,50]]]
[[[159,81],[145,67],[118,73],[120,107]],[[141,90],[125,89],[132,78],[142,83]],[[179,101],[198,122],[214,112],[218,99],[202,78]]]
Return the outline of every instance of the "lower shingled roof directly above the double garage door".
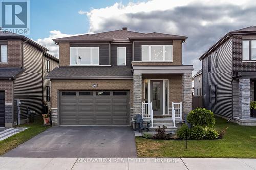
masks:
[[[49,79],[118,79],[132,78],[131,66],[74,66],[52,70]]]

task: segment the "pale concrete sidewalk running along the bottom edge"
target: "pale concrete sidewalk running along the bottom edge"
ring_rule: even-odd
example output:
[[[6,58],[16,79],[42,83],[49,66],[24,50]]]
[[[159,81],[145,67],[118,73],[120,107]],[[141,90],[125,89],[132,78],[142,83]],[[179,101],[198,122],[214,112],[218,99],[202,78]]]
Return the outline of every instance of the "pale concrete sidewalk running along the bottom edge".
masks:
[[[256,169],[256,159],[222,158],[8,158],[0,169]]]

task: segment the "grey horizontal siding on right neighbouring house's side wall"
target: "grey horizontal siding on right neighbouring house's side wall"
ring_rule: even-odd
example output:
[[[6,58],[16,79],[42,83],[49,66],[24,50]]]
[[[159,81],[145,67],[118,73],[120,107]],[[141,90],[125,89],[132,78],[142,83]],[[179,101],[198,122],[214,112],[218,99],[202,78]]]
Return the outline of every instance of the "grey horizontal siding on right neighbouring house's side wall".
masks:
[[[218,68],[215,67],[215,53],[218,52]],[[211,71],[208,72],[208,58],[211,56]],[[232,39],[222,44],[202,61],[203,106],[214,114],[232,117]],[[215,103],[215,85],[218,85],[218,101]],[[211,103],[209,86],[211,85]],[[206,94],[206,97],[204,96]]]

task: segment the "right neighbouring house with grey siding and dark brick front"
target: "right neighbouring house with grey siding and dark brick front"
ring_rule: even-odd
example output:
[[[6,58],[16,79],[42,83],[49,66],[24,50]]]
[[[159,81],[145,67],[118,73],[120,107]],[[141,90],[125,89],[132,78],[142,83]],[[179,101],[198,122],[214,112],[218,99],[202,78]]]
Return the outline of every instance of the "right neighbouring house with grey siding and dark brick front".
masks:
[[[256,26],[230,31],[200,58],[203,106],[241,125],[256,125]]]

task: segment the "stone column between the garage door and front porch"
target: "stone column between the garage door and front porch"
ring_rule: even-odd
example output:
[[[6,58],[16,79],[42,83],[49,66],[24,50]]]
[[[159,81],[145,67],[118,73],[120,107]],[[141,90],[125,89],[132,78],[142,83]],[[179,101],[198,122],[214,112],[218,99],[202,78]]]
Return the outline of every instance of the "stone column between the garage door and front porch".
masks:
[[[142,114],[142,75],[133,74],[133,115]]]

